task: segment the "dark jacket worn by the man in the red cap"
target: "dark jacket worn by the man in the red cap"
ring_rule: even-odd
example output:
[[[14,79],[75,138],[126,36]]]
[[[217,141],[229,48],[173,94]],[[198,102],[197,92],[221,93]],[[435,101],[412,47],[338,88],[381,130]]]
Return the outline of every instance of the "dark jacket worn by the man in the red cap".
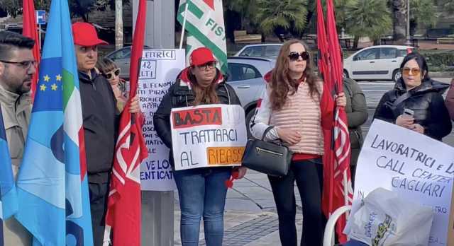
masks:
[[[89,175],[100,174],[90,182],[106,182],[114,162],[118,110],[109,81],[92,70],[92,78],[79,71],[85,152]],[[102,177],[101,177],[102,176]]]

